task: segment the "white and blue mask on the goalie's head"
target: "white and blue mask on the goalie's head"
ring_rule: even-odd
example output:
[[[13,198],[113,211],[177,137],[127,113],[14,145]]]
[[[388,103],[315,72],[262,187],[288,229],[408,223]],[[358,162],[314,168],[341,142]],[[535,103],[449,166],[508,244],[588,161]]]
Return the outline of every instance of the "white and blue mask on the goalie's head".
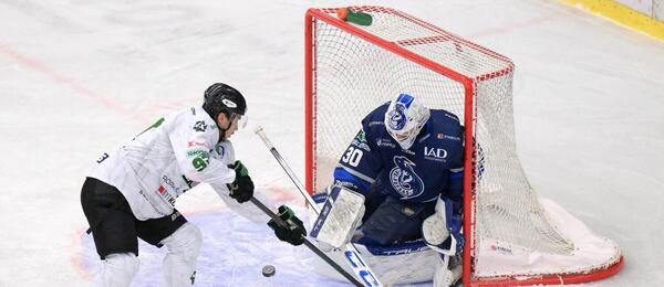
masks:
[[[403,149],[409,149],[428,118],[428,108],[415,97],[401,94],[387,107],[385,128]]]

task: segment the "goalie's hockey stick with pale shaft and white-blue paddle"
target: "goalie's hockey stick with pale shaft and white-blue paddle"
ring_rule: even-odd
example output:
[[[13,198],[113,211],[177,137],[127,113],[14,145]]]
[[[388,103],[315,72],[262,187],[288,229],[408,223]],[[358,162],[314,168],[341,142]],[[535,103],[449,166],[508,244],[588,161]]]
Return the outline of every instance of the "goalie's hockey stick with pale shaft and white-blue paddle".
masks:
[[[321,209],[315,204],[315,201],[313,201],[311,195],[309,195],[309,193],[304,189],[304,185],[302,185],[302,182],[300,182],[300,180],[298,179],[295,173],[290,169],[290,167],[288,166],[286,160],[283,160],[283,158],[281,157],[281,155],[279,153],[277,148],[274,148],[272,142],[268,139],[268,136],[266,136],[262,127],[261,126],[256,127],[253,132],[256,132],[256,135],[258,135],[262,139],[263,144],[266,144],[266,147],[268,147],[270,152],[272,152],[272,156],[274,156],[274,158],[277,159],[277,161],[279,162],[279,164],[281,166],[283,171],[286,171],[288,177],[295,184],[295,187],[300,191],[300,194],[302,194],[302,196],[304,196],[304,199],[307,200],[309,205],[313,209],[315,214],[320,214]],[[347,243],[344,246],[343,255],[346,258],[346,261],[349,262],[351,269],[353,269],[353,273],[355,273],[355,275],[357,275],[357,277],[364,281],[364,286],[370,286],[370,287],[382,287],[383,286],[383,284],[381,284],[381,281],[378,280],[378,277],[375,276],[374,273],[369,267],[369,265],[365,264],[364,259],[360,255],[360,252],[357,251],[355,245],[353,245],[352,243]]]

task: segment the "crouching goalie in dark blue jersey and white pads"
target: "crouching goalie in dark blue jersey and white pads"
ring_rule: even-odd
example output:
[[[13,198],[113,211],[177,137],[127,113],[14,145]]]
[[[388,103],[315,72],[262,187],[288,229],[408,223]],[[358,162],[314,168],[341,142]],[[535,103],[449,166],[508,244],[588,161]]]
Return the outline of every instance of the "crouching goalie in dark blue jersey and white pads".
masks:
[[[323,249],[352,241],[384,285],[453,285],[464,245],[463,132],[456,115],[428,109],[417,95],[375,108],[318,195],[326,201],[311,236]]]

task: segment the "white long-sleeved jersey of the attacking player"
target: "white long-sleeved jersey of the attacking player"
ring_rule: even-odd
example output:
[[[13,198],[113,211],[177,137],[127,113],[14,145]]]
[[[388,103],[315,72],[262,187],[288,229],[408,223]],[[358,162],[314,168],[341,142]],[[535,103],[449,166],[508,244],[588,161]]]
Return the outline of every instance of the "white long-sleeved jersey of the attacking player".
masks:
[[[235,180],[230,141],[201,108],[175,111],[133,140],[104,152],[91,178],[117,188],[138,220],[170,215],[177,196],[199,182],[227,193]]]

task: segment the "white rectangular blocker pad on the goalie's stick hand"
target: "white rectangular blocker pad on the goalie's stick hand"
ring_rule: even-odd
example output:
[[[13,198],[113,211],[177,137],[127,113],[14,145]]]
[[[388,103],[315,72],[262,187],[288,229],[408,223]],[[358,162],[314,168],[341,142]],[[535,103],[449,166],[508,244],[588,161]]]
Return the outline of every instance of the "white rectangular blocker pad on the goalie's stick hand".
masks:
[[[363,215],[364,195],[334,185],[329,189],[310,235],[321,243],[322,249],[341,248],[351,240]]]

